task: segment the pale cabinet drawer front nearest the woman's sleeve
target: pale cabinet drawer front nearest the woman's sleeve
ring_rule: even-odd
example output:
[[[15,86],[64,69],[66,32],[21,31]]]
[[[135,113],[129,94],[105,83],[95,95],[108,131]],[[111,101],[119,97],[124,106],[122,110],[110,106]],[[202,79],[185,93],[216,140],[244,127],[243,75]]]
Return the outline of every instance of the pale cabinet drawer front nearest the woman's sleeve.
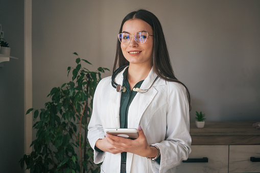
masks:
[[[192,161],[203,161],[207,158],[208,162],[185,162],[176,167],[176,172],[228,172],[228,145],[192,145],[192,153],[189,159]],[[206,160],[206,159],[204,159]]]

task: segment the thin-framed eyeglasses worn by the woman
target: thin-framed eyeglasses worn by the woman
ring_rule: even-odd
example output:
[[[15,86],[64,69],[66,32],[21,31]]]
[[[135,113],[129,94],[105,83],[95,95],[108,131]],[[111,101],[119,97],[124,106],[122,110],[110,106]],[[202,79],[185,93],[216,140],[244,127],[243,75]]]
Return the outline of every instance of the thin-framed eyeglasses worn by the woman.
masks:
[[[143,44],[146,42],[149,34],[148,32],[138,32],[134,35],[129,35],[127,33],[121,33],[119,34],[119,41],[123,44],[129,44],[131,41],[131,37],[134,37],[135,42],[138,44]],[[153,35],[150,35],[153,36]]]

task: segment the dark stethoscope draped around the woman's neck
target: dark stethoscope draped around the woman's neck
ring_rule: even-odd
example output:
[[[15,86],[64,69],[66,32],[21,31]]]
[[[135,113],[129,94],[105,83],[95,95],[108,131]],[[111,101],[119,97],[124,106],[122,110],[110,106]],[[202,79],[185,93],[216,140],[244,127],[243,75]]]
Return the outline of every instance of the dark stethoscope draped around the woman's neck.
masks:
[[[116,89],[117,92],[126,92],[126,87],[122,86],[122,85],[119,85],[117,83],[114,82],[114,79],[115,77],[125,68],[127,67],[128,65],[124,65],[124,66],[121,66],[119,68],[117,68],[114,72],[113,72],[113,75],[111,77],[111,84],[112,86]],[[155,80],[153,81],[152,85],[148,88],[148,89],[141,89],[141,88],[133,88],[133,91],[136,91],[138,93],[146,93],[147,91],[149,91],[149,89],[153,86],[153,84],[157,81],[159,77],[157,76],[155,78]]]

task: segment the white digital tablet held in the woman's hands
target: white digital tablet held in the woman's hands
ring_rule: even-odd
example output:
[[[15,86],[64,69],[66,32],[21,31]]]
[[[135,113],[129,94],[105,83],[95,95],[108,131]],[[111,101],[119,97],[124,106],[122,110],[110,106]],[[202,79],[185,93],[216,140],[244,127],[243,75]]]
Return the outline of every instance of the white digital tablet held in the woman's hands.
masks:
[[[137,129],[115,129],[108,128],[105,132],[109,135],[120,136],[124,138],[136,139],[139,137]]]

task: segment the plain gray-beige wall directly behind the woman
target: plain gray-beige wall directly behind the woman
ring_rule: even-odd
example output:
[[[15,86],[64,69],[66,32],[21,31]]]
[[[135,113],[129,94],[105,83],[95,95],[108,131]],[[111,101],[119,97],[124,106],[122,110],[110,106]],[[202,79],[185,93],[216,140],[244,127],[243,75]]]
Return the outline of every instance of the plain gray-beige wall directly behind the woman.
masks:
[[[176,76],[191,91],[192,121],[195,111],[259,120],[260,1],[33,1],[34,107],[68,80],[73,52],[112,69],[121,21],[138,8],[161,21]]]

